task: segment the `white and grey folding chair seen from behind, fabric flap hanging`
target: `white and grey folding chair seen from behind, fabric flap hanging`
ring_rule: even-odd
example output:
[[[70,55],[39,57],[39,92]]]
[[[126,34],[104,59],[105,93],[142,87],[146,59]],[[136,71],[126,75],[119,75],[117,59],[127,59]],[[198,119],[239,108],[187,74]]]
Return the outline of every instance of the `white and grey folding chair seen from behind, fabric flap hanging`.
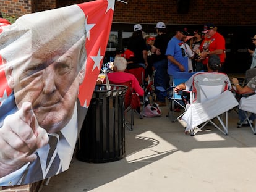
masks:
[[[238,106],[234,94],[228,90],[228,82],[228,76],[224,73],[205,72],[194,75],[190,106],[182,116],[182,120],[187,123],[186,133],[190,131],[190,135],[195,135],[210,122],[224,135],[228,135],[228,111]],[[226,114],[226,123],[223,114]],[[222,128],[213,119],[218,119]]]

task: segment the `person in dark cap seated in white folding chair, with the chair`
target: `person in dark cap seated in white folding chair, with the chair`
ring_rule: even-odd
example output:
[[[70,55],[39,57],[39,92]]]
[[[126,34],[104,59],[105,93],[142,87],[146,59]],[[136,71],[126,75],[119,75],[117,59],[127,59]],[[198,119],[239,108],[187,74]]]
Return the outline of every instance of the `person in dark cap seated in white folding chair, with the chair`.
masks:
[[[224,135],[228,134],[227,123],[224,125],[219,115],[223,113],[227,115],[227,112],[237,106],[238,102],[234,98],[233,93],[229,91],[232,87],[228,75],[219,73],[219,67],[220,57],[212,55],[208,59],[208,72],[195,73],[189,80],[174,88],[176,93],[182,90],[192,90],[192,94],[189,94],[192,98],[186,99],[190,103],[186,106],[186,112],[181,118],[181,120],[187,123],[185,133],[190,132],[190,135],[195,135],[205,125],[212,124]],[[184,92],[186,93],[186,91]],[[215,106],[217,101],[221,102],[222,109],[218,109]],[[205,107],[207,107],[207,111],[203,110]],[[213,111],[214,113],[211,113]],[[222,128],[216,126],[213,122],[215,118],[218,119]]]

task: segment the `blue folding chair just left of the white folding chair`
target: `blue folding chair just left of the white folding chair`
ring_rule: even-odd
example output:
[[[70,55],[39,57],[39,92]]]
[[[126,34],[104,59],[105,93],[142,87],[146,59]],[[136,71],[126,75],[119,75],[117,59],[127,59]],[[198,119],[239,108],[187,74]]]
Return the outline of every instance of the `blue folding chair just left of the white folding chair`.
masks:
[[[181,84],[186,82],[194,73],[188,73],[188,72],[176,72],[173,75],[173,83],[168,89],[169,91],[169,111],[166,117],[169,117],[169,113],[171,112],[171,121],[176,122],[176,120],[181,119],[182,115],[184,115],[185,109],[186,109],[186,100],[183,98],[181,94],[177,94],[174,92],[174,88]],[[158,88],[159,89],[159,88]],[[162,90],[163,91],[163,90]],[[179,112],[179,109],[182,109],[181,112]],[[174,117],[174,114],[178,113],[176,117]]]

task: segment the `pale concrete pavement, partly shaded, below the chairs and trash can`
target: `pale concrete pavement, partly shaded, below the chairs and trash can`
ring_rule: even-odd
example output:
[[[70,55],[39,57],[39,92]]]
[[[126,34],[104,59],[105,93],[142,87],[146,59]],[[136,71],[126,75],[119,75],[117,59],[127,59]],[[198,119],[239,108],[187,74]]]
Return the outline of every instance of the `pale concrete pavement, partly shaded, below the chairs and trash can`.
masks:
[[[73,159],[70,169],[51,178],[43,192],[234,192],[255,191],[256,136],[237,128],[229,112],[229,135],[207,126],[185,135],[181,123],[166,117],[139,119],[126,129],[126,157],[91,164]]]

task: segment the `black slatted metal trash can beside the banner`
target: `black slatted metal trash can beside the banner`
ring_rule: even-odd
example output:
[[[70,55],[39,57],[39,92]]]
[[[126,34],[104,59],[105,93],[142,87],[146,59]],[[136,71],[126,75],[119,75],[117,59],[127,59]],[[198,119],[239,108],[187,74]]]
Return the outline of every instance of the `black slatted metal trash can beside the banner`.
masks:
[[[77,159],[112,162],[125,156],[124,94],[127,86],[96,85],[77,141]]]

